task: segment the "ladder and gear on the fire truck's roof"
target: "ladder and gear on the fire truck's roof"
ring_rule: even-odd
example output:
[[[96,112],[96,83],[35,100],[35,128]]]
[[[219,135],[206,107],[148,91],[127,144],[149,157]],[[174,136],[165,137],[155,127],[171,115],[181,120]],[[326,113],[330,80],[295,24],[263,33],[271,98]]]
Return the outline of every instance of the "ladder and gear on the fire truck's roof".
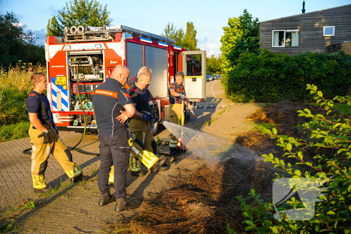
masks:
[[[65,27],[63,34],[63,40],[65,43],[70,42],[96,42],[96,41],[114,41],[116,33],[124,33],[124,38],[131,36],[144,37],[154,41],[168,43],[173,45],[176,41],[166,37],[162,37],[156,34],[147,33],[145,31],[137,30],[127,26],[102,26],[102,27],[91,27],[86,25],[83,26],[72,26]]]

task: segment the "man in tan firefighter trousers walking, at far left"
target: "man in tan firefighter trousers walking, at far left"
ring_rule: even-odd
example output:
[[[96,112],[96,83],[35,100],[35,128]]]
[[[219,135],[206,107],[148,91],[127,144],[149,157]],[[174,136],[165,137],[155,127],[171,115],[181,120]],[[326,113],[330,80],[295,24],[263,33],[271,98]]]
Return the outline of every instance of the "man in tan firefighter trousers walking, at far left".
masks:
[[[33,91],[27,98],[29,136],[32,144],[32,180],[35,192],[48,192],[45,181],[45,170],[48,166],[50,153],[59,161],[68,177],[73,183],[87,180],[89,176],[83,176],[82,169],[72,162],[72,154],[59,138],[59,132],[54,123],[48,98],[43,94],[48,82],[44,73],[34,73],[31,77],[34,86]]]

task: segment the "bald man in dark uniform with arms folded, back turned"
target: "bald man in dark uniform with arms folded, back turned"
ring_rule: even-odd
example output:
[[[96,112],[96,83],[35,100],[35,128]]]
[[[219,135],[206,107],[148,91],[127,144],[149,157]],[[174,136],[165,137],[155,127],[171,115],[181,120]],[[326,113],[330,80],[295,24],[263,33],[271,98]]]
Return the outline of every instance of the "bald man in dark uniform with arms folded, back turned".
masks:
[[[115,211],[132,209],[138,203],[127,198],[125,190],[126,174],[130,157],[131,140],[129,128],[125,122],[133,117],[134,105],[127,89],[129,70],[123,65],[117,65],[111,78],[101,84],[93,92],[93,106],[100,141],[100,169],[98,187],[101,193],[99,205],[116,201]],[[115,195],[110,194],[108,176],[111,166],[114,166]]]

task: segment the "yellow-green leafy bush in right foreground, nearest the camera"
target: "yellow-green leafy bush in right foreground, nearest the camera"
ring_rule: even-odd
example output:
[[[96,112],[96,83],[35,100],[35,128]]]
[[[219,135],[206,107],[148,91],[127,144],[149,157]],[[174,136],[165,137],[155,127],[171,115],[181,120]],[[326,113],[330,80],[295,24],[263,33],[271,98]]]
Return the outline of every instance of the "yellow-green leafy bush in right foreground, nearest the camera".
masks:
[[[244,216],[248,219],[244,222],[248,225],[246,230],[256,230],[259,233],[350,233],[351,232],[351,127],[350,120],[343,116],[332,114],[333,100],[347,102],[351,105],[351,98],[334,97],[333,100],[325,99],[323,93],[317,90],[314,85],[307,85],[310,94],[321,106],[325,106],[327,115],[312,115],[308,109],[298,111],[300,116],[311,118],[309,123],[303,124],[303,128],[309,132],[309,140],[295,139],[286,135],[279,135],[275,128],[266,129],[264,134],[269,134],[272,138],[277,138],[277,145],[286,150],[283,156],[295,158],[296,165],[303,165],[309,168],[309,171],[301,173],[295,166],[288,163],[285,165],[284,160],[274,157],[272,154],[262,155],[265,161],[271,162],[274,167],[278,167],[288,172],[292,178],[310,178],[315,183],[314,188],[302,187],[303,192],[308,189],[316,189],[321,186],[323,194],[319,196],[321,202],[315,203],[315,213],[310,220],[289,220],[284,212],[291,208],[306,208],[301,201],[291,197],[279,205],[279,208],[273,209],[272,203],[266,202],[255,194],[251,189],[248,197],[237,197],[241,201],[241,209],[244,210]],[[329,116],[332,114],[332,116]],[[330,118],[331,117],[331,118]],[[309,162],[304,159],[302,150],[306,147],[316,148],[314,156],[317,163]],[[328,158],[324,153],[320,153],[320,148],[326,148],[333,152],[332,157]],[[318,165],[317,165],[318,164]],[[281,178],[277,174],[277,178]],[[327,179],[330,180],[327,180]],[[324,181],[320,181],[324,180]],[[323,190],[322,189],[322,190]],[[254,200],[248,202],[249,199]],[[274,206],[275,207],[275,206]],[[274,219],[273,215],[280,212],[281,219]]]

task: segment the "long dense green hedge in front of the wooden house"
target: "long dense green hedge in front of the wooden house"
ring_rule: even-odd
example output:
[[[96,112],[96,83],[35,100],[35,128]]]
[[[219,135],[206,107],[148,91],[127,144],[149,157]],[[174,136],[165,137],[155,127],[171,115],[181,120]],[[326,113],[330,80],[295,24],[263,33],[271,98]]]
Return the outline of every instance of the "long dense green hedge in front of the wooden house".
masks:
[[[226,95],[234,102],[312,102],[307,84],[323,90],[325,98],[345,96],[351,85],[351,56],[305,53],[288,56],[264,50],[242,54],[223,76]]]

